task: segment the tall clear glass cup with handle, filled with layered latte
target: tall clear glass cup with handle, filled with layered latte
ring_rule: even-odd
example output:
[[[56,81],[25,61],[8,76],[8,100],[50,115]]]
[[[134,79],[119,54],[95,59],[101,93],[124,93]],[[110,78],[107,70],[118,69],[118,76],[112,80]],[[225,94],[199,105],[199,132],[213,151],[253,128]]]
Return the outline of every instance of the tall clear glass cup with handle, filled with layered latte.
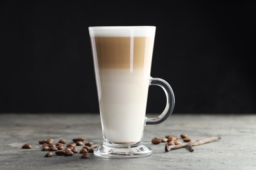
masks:
[[[149,156],[152,149],[142,143],[144,126],[160,124],[173,112],[171,86],[150,76],[155,32],[154,26],[89,27],[104,139],[95,156]],[[145,116],[150,85],[161,86],[167,97],[156,118]]]

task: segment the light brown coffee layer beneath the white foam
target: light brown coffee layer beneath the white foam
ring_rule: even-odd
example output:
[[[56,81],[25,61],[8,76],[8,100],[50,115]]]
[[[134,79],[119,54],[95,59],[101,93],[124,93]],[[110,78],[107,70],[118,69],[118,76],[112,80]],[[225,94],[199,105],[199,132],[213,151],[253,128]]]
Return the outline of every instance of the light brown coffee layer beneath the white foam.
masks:
[[[95,44],[98,67],[139,69],[151,62],[154,37],[95,37]]]

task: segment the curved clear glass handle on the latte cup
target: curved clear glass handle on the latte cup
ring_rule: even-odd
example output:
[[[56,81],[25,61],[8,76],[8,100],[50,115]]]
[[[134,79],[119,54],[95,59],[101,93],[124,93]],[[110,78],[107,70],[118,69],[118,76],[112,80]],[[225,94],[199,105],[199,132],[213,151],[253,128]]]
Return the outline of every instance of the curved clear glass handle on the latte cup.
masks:
[[[171,86],[161,78],[151,78],[150,85],[160,86],[166,95],[166,107],[163,112],[156,118],[146,118],[146,125],[148,124],[161,124],[165,121],[173,112],[175,105],[175,97]]]

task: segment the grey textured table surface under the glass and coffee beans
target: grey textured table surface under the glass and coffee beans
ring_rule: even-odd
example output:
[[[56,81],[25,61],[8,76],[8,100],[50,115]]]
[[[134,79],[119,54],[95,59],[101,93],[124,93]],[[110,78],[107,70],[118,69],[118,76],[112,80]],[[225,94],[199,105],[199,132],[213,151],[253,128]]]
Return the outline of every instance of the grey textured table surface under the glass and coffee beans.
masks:
[[[147,114],[154,117],[156,114]],[[86,137],[102,143],[99,114],[0,114],[0,169],[256,169],[256,114],[173,114],[165,122],[145,126],[144,144],[153,154],[144,158],[102,159],[90,154],[45,158],[40,139]],[[153,137],[186,133],[192,139],[221,140],[165,152]],[[22,149],[24,143],[32,149]]]

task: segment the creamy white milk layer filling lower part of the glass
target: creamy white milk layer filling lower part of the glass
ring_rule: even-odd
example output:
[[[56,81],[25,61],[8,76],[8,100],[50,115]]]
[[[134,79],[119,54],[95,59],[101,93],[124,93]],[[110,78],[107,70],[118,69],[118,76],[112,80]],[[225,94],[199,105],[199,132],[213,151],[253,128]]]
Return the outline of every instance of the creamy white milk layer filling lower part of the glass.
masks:
[[[144,129],[149,69],[100,69],[102,131],[111,143],[137,143]]]

